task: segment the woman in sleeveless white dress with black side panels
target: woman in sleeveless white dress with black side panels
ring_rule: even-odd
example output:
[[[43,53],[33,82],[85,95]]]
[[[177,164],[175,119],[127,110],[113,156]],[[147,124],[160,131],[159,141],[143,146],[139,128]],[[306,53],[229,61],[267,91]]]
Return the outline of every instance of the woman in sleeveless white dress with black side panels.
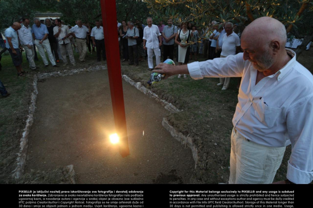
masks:
[[[182,23],[182,29],[177,31],[176,37],[175,37],[175,43],[178,45],[178,65],[187,64],[189,62],[189,40],[192,38],[192,32],[191,30],[187,29],[187,22]],[[180,78],[181,75],[178,75],[178,78]],[[184,74],[184,78],[186,78],[187,75]]]

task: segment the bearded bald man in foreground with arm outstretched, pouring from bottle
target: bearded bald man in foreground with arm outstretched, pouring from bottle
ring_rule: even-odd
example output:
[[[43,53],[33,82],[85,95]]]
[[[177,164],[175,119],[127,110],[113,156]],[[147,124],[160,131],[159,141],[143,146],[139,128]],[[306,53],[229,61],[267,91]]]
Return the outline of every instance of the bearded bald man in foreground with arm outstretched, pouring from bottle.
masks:
[[[285,26],[271,17],[250,23],[241,36],[243,53],[154,72],[166,77],[242,77],[233,116],[229,184],[272,183],[285,152],[291,155],[285,181],[313,179],[313,76],[285,48]]]

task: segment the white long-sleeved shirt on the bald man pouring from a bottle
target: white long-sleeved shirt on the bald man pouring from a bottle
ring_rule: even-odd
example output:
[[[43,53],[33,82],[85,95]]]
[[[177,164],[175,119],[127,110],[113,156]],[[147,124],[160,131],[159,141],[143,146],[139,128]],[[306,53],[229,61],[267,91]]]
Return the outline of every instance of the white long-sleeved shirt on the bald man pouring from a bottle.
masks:
[[[313,180],[313,76],[293,58],[256,85],[257,70],[243,53],[187,65],[193,79],[242,77],[233,126],[247,139],[273,147],[291,144],[287,178]]]

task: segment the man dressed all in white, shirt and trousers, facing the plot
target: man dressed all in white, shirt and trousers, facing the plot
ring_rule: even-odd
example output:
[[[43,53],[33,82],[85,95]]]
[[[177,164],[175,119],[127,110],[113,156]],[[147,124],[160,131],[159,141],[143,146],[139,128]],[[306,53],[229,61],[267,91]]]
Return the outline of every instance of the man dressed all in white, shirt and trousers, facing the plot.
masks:
[[[156,55],[156,65],[160,63],[162,36],[159,28],[152,24],[152,18],[147,18],[148,26],[143,29],[143,49],[147,49],[149,71],[153,69],[153,52]]]

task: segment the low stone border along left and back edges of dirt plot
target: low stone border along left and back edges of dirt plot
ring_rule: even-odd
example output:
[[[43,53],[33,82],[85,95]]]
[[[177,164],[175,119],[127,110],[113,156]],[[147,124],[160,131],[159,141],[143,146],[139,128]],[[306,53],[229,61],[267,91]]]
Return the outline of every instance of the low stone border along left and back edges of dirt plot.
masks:
[[[31,93],[31,104],[29,106],[28,110],[28,116],[26,119],[26,125],[25,128],[23,129],[22,137],[20,139],[20,151],[16,153],[18,155],[16,161],[17,165],[16,168],[14,169],[12,177],[15,179],[19,179],[24,172],[24,167],[25,167],[25,161],[26,161],[26,153],[28,149],[28,134],[29,134],[29,129],[33,124],[33,114],[36,109],[36,99],[37,99],[37,94],[38,94],[38,89],[37,89],[37,82],[38,80],[41,79],[46,79],[50,77],[63,77],[63,76],[69,76],[73,74],[79,74],[83,72],[95,72],[99,70],[104,70],[106,69],[105,66],[92,66],[88,68],[82,68],[82,69],[74,69],[74,70],[65,70],[65,71],[58,71],[58,72],[46,72],[46,73],[37,73],[34,76],[33,79],[33,92]],[[72,180],[73,181],[73,180]]]

